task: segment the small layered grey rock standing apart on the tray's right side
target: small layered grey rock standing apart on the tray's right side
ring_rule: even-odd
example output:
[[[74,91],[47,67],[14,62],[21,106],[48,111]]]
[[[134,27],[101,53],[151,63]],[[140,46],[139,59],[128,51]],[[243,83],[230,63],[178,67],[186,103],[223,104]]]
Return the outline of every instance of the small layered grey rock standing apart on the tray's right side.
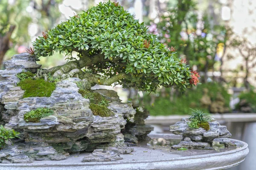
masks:
[[[192,129],[188,126],[189,119],[180,119],[180,122],[170,126],[170,131],[176,135],[182,135],[183,140],[172,146],[173,148],[197,148],[197,149],[212,149],[211,144],[216,138],[230,138],[231,133],[226,126],[221,126],[219,122],[213,120],[209,122],[210,129],[207,131],[201,127]]]

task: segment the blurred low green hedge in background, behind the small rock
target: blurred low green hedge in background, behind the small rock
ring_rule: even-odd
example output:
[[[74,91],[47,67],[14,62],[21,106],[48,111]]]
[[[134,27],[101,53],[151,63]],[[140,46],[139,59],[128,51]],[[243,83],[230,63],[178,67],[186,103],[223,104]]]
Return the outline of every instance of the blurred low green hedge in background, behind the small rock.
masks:
[[[226,88],[215,82],[198,85],[196,89],[191,88],[184,93],[178,93],[176,91],[172,94],[169,88],[166,88],[164,92],[162,89],[157,89],[156,94],[144,94],[143,105],[145,105],[145,108],[152,116],[187,114],[190,112],[189,108],[201,108],[206,113],[215,113],[211,112],[210,108],[201,103],[201,99],[204,96],[204,89],[208,90],[207,95],[211,99],[211,102],[217,101],[218,95],[221,95],[224,98],[224,106],[229,108],[230,94],[227,93]],[[152,98],[154,98],[154,103],[151,103]]]

